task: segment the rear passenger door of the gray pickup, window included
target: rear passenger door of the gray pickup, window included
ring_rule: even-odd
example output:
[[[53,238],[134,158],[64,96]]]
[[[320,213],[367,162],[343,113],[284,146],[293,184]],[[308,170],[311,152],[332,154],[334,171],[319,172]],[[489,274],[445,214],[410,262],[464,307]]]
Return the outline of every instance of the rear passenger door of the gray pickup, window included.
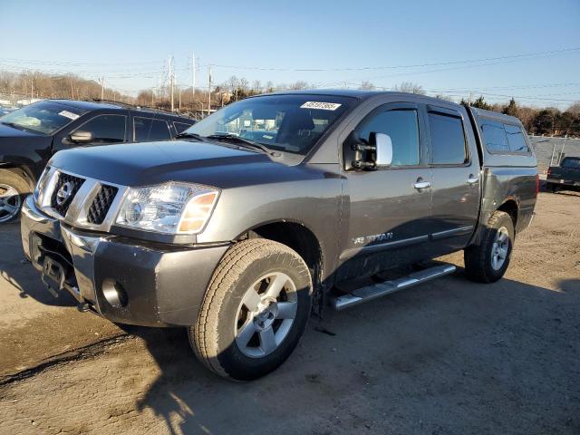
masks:
[[[437,256],[469,243],[479,211],[479,160],[469,121],[459,111],[427,105],[426,112],[433,177],[430,249]]]

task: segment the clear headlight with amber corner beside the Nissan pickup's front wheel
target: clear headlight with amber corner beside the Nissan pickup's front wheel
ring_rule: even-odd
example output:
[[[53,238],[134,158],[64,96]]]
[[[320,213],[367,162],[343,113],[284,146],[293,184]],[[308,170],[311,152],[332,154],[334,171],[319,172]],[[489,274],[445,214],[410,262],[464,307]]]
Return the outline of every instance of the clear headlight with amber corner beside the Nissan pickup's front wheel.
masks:
[[[176,182],[130,188],[117,225],[165,234],[198,234],[206,227],[218,196],[218,189]]]

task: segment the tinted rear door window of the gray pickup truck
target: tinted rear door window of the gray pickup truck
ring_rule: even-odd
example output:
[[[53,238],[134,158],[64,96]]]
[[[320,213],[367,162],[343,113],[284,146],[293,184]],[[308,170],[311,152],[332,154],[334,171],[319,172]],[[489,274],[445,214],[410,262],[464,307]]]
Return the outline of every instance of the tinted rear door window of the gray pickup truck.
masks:
[[[463,165],[468,160],[463,121],[455,116],[429,113],[431,163]]]

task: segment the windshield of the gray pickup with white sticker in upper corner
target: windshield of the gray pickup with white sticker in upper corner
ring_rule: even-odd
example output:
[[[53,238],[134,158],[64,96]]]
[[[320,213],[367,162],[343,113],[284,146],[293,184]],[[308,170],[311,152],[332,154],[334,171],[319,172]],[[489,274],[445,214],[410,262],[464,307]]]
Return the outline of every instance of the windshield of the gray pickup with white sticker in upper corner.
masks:
[[[185,133],[234,135],[272,150],[306,154],[354,102],[328,95],[266,95],[235,102]]]

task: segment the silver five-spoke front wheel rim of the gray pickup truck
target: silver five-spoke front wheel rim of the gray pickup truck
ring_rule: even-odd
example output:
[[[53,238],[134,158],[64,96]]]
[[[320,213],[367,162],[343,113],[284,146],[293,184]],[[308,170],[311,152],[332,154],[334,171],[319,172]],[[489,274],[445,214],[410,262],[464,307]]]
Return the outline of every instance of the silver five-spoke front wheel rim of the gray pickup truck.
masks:
[[[263,275],[247,289],[234,324],[237,347],[251,358],[273,353],[284,342],[298,309],[296,286],[282,272]]]

